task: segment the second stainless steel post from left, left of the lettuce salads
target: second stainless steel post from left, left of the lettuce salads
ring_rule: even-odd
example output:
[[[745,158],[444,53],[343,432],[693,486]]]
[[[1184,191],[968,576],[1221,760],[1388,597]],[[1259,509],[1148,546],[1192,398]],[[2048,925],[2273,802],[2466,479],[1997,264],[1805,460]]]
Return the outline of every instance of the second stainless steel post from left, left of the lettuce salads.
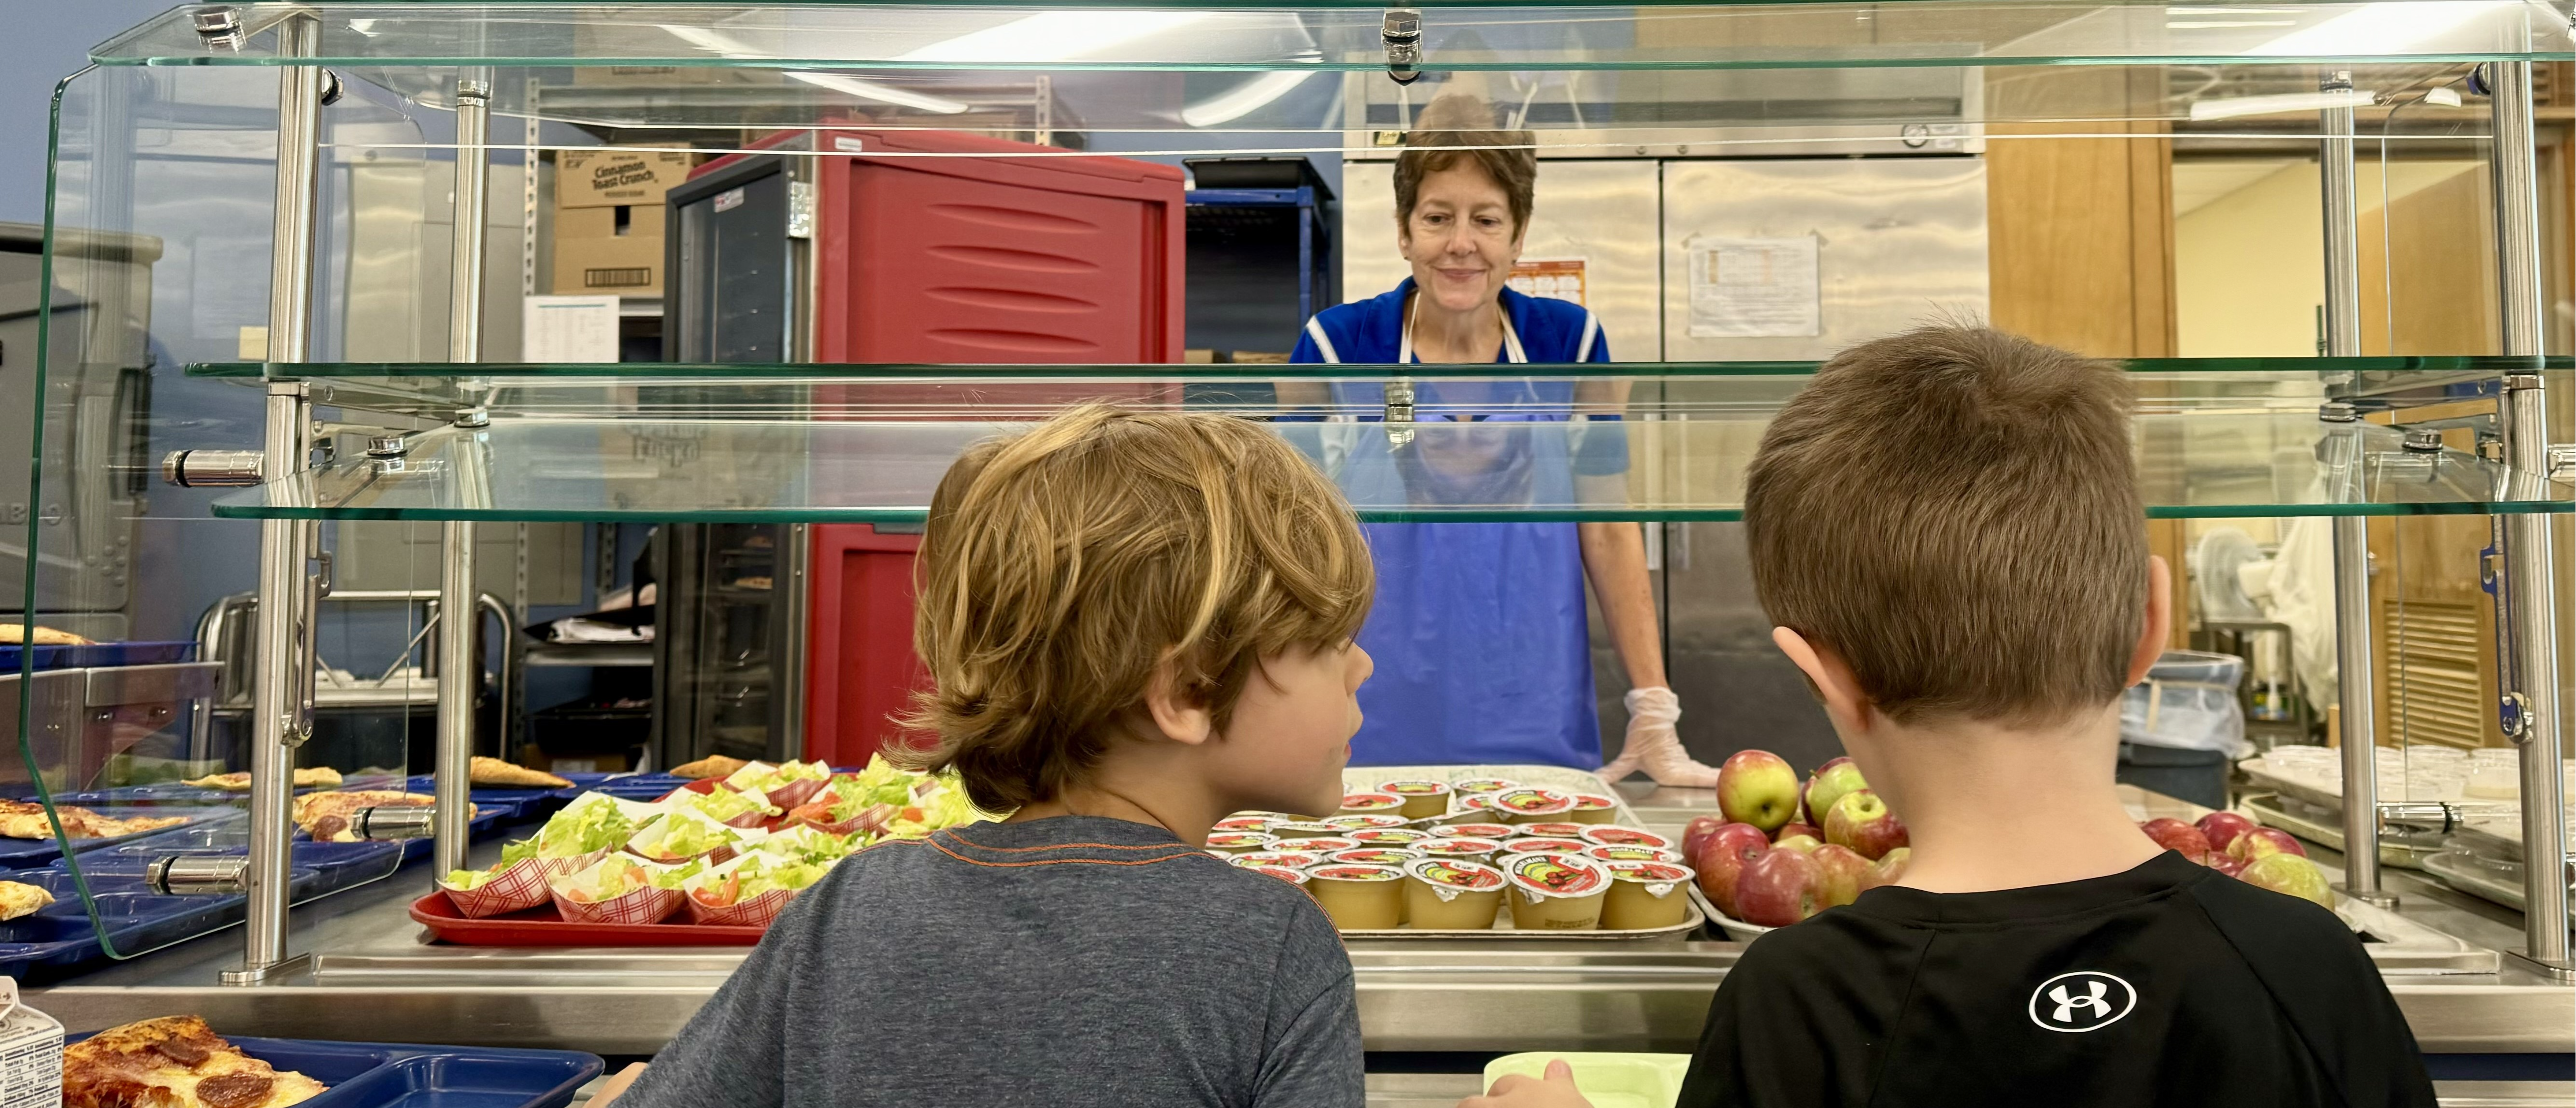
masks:
[[[456,214],[448,237],[448,361],[482,361],[482,291],[484,291],[484,201],[489,198],[489,106],[492,85],[474,77],[456,80]],[[477,423],[482,412],[461,415],[459,423]],[[479,430],[461,428],[459,451],[471,451],[464,438]],[[464,474],[459,474],[464,479]],[[433,858],[438,874],[464,868],[474,804],[474,693],[482,691],[482,649],[477,629],[482,608],[474,595],[474,523],[448,521],[438,536],[438,843]]]

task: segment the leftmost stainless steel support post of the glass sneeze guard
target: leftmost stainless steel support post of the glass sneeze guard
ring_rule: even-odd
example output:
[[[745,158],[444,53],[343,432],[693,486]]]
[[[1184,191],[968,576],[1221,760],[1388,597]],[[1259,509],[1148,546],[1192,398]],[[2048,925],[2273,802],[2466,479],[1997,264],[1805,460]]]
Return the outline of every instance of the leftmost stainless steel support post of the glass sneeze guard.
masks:
[[[278,54],[312,54],[322,36],[314,15],[278,23]],[[312,358],[314,224],[322,165],[322,70],[278,70],[276,237],[268,250],[268,361]],[[270,482],[307,464],[304,384],[268,387],[265,459]],[[260,521],[260,608],[250,691],[250,863],[242,969],[224,984],[258,984],[296,966],[286,956],[289,850],[294,832],[294,750],[307,740],[301,703],[312,657],[304,654],[304,575],[312,557],[304,521]]]

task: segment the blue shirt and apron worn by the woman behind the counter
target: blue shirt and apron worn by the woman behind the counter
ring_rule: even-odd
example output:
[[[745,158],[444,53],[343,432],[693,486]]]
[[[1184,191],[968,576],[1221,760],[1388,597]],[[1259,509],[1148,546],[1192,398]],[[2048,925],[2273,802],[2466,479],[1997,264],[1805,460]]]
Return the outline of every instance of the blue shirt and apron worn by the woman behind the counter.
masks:
[[[1383,296],[1319,312],[1288,361],[1394,363],[1412,278]],[[1502,291],[1533,363],[1610,361],[1582,304]],[[1510,350],[1504,350],[1504,358]],[[1334,384],[1334,405],[1383,407],[1381,384]],[[1347,410],[1347,407],[1345,407]],[[1571,505],[1577,474],[1625,472],[1625,435],[1571,423],[1574,381],[1414,381],[1417,423],[1497,425],[1486,443],[1425,433],[1391,451],[1383,433],[1321,446],[1327,472],[1363,505]],[[1551,423],[1558,428],[1502,428]],[[1324,430],[1324,428],[1316,428]],[[1352,428],[1355,430],[1355,428]],[[1432,456],[1425,459],[1425,446]],[[1437,451],[1473,451],[1443,466]],[[1540,763],[1597,768],[1584,557],[1574,523],[1365,523],[1378,603],[1360,629],[1376,675],[1352,765]]]

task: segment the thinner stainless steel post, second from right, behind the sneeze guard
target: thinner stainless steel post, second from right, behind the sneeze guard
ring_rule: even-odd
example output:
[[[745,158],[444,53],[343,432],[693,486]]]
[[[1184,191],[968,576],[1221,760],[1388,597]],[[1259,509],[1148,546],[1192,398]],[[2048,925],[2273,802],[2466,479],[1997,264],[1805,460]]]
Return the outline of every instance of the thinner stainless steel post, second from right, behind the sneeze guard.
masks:
[[[2329,70],[2324,93],[2349,93],[2352,72]],[[2352,183],[2352,103],[2326,108],[2318,129],[2318,180],[2326,211],[2326,356],[2362,353],[2362,209]],[[2352,456],[2367,495],[2367,454]],[[2380,760],[2370,665],[2370,521],[2334,518],[2334,688],[2344,742],[2344,894],[2396,904],[2380,892]]]

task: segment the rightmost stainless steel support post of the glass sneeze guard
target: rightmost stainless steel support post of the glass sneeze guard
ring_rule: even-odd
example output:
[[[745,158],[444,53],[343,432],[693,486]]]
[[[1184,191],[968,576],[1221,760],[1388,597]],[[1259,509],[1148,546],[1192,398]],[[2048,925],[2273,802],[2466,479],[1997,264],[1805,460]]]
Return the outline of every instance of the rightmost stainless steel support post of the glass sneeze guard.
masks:
[[[2488,62],[2496,126],[2496,291],[2504,353],[2540,353],[2540,198],[2532,157],[2532,64]],[[2504,379],[2499,433],[2517,474],[2550,469],[2548,392],[2540,374]],[[2558,582],[2548,515],[2504,518],[2504,626],[2499,724],[2522,747],[2522,935],[2532,969],[2576,977],[2568,961],[2566,809],[2561,807]]]

